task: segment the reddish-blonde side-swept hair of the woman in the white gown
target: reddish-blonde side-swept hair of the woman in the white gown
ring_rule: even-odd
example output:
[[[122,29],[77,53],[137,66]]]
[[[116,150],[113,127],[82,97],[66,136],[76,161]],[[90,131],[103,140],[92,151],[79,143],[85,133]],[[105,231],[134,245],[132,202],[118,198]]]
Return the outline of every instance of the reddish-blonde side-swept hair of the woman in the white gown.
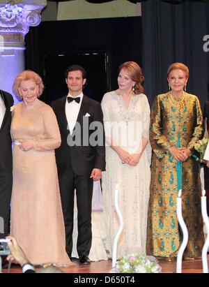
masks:
[[[142,86],[142,82],[144,82],[144,76],[142,75],[141,67],[134,61],[126,61],[119,67],[119,72],[122,69],[130,76],[132,81],[136,82],[134,84],[134,94],[143,93],[144,87]]]

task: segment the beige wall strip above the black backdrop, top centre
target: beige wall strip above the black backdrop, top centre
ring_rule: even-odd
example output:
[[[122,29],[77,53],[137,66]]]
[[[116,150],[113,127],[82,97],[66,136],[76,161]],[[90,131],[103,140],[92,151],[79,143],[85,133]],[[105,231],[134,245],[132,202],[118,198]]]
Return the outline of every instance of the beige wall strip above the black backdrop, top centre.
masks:
[[[137,5],[127,0],[89,3],[85,0],[59,2],[57,20],[137,16]]]

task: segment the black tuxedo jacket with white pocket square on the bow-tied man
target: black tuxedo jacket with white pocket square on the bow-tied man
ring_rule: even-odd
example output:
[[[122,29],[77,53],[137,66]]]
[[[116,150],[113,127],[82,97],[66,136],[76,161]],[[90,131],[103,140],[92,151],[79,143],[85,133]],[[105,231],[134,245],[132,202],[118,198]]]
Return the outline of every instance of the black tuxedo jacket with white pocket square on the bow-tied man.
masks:
[[[105,170],[104,124],[100,103],[84,95],[77,117],[77,124],[73,131],[75,134],[70,135],[65,115],[65,101],[66,96],[52,102],[52,108],[61,132],[61,147],[55,151],[58,171],[62,172],[70,166],[77,175],[91,175],[93,168]],[[102,136],[100,145],[95,146],[89,140],[94,138],[93,135],[96,133],[96,130],[90,129],[93,127],[94,122],[99,123],[100,128],[102,127],[102,131],[100,129],[99,132]],[[88,142],[86,142],[87,135]]]

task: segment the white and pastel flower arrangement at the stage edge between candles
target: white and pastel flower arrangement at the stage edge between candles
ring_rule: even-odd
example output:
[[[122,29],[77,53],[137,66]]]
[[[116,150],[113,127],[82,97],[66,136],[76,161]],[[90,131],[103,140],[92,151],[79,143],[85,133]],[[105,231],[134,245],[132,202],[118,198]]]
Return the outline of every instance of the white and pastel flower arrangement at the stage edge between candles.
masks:
[[[154,256],[141,253],[125,255],[109,273],[161,273],[162,268]]]

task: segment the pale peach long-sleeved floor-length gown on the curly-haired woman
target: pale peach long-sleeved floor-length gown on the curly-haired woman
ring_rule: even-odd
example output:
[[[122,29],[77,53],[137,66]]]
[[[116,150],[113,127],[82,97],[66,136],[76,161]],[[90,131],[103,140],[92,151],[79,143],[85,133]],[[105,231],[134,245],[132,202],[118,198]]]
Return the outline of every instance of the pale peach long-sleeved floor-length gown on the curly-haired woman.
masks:
[[[72,263],[65,252],[65,228],[54,149],[61,138],[52,108],[37,100],[13,107],[13,193],[11,235],[34,265]],[[22,151],[20,140],[33,140],[34,149]]]

